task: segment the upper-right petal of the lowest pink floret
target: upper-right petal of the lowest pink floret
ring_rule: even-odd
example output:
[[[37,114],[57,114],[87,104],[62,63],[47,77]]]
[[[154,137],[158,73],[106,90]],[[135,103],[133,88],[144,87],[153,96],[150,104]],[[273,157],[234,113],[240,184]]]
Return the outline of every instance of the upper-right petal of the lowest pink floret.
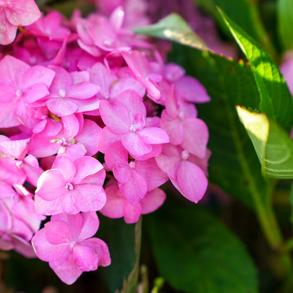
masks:
[[[80,230],[79,234],[76,235],[77,241],[84,240],[94,236],[99,229],[99,218],[95,211],[88,211],[80,213],[83,218],[83,227]]]

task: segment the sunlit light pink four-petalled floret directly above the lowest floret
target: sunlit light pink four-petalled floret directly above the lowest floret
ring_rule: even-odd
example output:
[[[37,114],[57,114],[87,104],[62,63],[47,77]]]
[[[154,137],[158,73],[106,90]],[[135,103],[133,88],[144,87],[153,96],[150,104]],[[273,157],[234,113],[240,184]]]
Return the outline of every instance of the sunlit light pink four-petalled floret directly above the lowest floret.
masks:
[[[72,162],[58,157],[37,182],[36,212],[54,215],[102,209],[106,202],[104,180],[105,170],[98,160],[84,156]]]

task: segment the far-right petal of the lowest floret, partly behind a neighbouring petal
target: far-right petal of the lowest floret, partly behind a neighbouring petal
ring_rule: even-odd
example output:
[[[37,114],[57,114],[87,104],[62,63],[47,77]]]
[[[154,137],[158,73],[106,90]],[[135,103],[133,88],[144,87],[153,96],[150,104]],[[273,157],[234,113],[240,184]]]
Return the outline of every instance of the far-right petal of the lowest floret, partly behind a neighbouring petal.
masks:
[[[108,246],[99,238],[89,238],[81,241],[80,245],[90,247],[99,257],[99,266],[106,267],[111,264]]]

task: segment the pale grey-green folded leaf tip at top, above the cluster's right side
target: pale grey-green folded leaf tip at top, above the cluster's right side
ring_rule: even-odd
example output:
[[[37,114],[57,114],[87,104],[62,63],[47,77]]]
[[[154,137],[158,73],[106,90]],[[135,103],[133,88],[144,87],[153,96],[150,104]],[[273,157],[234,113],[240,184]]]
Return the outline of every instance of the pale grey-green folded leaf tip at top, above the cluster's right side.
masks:
[[[135,29],[134,32],[179,42],[194,48],[208,49],[205,42],[176,13],[171,13],[155,24]]]

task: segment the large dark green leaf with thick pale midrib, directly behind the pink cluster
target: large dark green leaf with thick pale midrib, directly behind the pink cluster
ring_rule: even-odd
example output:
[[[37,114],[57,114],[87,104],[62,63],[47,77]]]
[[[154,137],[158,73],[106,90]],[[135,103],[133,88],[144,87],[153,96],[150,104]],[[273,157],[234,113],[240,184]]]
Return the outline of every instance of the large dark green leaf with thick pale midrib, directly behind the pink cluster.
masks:
[[[259,93],[251,67],[224,57],[174,44],[169,61],[180,63],[208,90],[211,102],[197,105],[209,126],[209,181],[256,211],[272,247],[281,236],[271,210],[272,182],[262,176],[253,145],[236,105],[257,108]]]

